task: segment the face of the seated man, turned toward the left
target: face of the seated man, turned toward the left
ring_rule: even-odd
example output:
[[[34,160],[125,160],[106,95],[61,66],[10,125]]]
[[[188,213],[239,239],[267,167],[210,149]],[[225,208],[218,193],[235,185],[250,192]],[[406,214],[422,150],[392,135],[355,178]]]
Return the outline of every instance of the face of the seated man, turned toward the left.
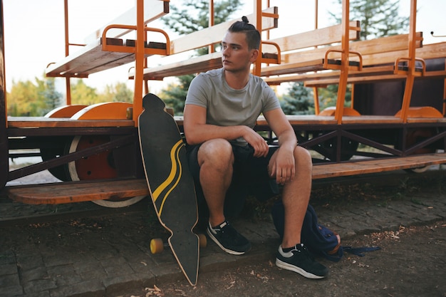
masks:
[[[249,49],[245,33],[227,32],[222,41],[222,64],[225,71],[249,71],[259,51]]]

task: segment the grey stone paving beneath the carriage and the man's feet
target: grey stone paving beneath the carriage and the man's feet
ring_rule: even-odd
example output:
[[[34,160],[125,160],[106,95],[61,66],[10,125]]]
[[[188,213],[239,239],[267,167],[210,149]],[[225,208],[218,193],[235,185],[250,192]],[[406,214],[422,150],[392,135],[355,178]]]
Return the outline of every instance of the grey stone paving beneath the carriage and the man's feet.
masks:
[[[147,199],[140,203],[149,205]],[[40,212],[36,208],[3,200],[0,218],[5,216],[4,209]],[[446,195],[400,199],[385,205],[350,201],[338,212],[315,209],[322,224],[348,239],[370,231],[444,220]],[[136,286],[152,288],[174,280],[187,283],[170,251],[150,253],[154,232],[167,238],[153,215],[150,211],[110,212],[100,217],[22,222],[19,226],[0,224],[0,297],[128,296],[126,289]],[[209,242],[201,249],[202,277],[206,271],[274,261],[279,237],[271,222],[237,219],[233,224],[251,240],[253,248],[244,256],[232,256]]]

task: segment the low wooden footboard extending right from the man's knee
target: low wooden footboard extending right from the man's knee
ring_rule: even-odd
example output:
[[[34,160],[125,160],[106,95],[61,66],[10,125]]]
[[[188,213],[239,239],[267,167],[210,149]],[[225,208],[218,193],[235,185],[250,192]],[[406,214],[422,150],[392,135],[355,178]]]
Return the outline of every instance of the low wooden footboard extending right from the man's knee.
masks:
[[[313,179],[403,170],[443,163],[446,163],[446,154],[444,153],[315,165],[313,166]]]

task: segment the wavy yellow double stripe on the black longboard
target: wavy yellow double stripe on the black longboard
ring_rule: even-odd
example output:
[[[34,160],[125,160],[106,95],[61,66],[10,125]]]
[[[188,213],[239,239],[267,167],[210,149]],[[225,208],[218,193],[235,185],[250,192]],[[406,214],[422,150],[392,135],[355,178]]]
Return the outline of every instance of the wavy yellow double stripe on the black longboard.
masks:
[[[160,184],[160,186],[157,187],[157,189],[155,189],[155,191],[153,192],[153,201],[156,202],[157,199],[160,197],[160,194],[162,194],[162,192],[164,192],[165,189],[169,187],[169,185],[172,184],[172,182],[174,182],[172,187],[170,187],[169,191],[167,191],[164,197],[162,197],[162,203],[160,209],[158,210],[159,215],[161,215],[162,213],[162,208],[164,207],[164,203],[167,197],[169,196],[170,192],[172,192],[172,190],[175,189],[175,187],[177,187],[177,184],[180,182],[182,176],[182,165],[178,155],[180,154],[180,150],[184,145],[185,144],[182,140],[178,140],[178,142],[175,143],[175,145],[172,147],[172,150],[170,150],[170,162],[172,164],[172,167],[170,168],[170,174],[167,177],[167,179],[164,182],[162,182],[162,184]],[[175,179],[175,177],[177,177],[177,179]]]

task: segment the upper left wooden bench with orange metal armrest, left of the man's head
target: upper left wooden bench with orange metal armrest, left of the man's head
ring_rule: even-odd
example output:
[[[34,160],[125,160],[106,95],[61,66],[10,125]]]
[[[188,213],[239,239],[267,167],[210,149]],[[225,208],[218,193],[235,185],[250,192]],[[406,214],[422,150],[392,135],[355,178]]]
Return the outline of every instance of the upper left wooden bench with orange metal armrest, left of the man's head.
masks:
[[[153,0],[150,5],[146,5],[145,23],[163,16],[169,12],[169,1]],[[132,14],[132,16],[130,16]],[[130,9],[123,16],[115,21],[131,21],[135,23],[135,9]],[[128,24],[109,24],[95,33],[100,36],[90,41],[80,50],[63,58],[58,63],[51,63],[46,68],[48,77],[76,77],[87,78],[92,73],[104,71],[117,66],[125,65],[135,61],[135,41],[133,39],[115,38],[129,31],[136,31],[137,26]],[[146,42],[145,56],[167,55],[169,47],[169,37],[167,34],[156,28],[144,28],[146,32],[155,31],[162,33],[165,37],[163,42]],[[100,33],[100,31],[102,31]],[[115,35],[110,33],[115,31]],[[117,33],[120,32],[120,33]],[[99,34],[100,33],[100,34]]]

